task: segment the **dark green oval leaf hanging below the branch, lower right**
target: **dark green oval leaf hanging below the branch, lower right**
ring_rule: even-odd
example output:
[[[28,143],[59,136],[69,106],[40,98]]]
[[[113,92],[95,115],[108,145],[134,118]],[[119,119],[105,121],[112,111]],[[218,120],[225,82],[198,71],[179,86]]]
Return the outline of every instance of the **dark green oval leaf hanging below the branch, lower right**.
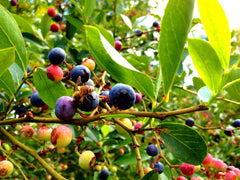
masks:
[[[207,145],[193,128],[178,123],[161,123],[161,138],[179,160],[199,165],[207,156]]]

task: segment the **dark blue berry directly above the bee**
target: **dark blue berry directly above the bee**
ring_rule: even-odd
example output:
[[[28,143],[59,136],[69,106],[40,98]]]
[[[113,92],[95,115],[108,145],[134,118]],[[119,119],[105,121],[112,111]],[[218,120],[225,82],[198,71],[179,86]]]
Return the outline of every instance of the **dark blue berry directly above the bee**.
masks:
[[[75,66],[71,71],[71,79],[76,83],[79,76],[81,76],[81,82],[85,83],[89,80],[91,75],[90,70],[84,65]]]

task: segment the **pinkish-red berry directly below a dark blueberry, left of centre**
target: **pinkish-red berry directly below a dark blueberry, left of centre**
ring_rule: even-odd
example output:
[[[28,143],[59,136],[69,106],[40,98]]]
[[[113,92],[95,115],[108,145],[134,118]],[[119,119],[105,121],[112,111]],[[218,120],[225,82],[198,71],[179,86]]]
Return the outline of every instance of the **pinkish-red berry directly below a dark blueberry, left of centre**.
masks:
[[[52,65],[47,68],[47,76],[54,82],[59,82],[63,79],[63,71],[59,66]]]

